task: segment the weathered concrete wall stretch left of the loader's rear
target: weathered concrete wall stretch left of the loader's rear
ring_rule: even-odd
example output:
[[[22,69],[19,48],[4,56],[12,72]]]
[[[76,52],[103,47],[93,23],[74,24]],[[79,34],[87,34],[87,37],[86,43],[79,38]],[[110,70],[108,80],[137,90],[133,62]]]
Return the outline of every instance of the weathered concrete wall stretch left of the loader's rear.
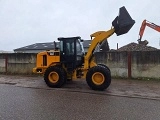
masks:
[[[10,53],[0,54],[0,73],[8,74],[32,74],[35,67],[36,54],[34,53]]]

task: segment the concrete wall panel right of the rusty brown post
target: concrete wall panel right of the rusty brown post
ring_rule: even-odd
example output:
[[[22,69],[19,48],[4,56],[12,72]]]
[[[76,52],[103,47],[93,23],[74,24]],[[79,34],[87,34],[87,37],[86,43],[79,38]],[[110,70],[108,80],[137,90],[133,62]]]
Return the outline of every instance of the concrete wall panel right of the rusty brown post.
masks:
[[[160,51],[132,53],[132,76],[160,78]]]

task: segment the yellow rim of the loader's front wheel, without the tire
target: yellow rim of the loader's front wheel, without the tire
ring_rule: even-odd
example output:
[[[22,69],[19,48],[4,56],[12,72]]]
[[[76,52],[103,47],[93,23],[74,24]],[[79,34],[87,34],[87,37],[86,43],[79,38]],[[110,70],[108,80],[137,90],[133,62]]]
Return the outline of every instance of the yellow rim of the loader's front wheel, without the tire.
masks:
[[[92,81],[94,84],[96,85],[101,85],[104,83],[104,75],[100,72],[95,72],[93,75],[92,75]]]

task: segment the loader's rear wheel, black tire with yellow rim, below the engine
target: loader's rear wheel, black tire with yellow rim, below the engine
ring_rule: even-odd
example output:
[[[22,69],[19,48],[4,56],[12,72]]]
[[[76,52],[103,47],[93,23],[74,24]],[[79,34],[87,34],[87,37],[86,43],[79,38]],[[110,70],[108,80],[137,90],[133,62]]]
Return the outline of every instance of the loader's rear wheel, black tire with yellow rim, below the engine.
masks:
[[[44,80],[47,86],[59,88],[66,82],[66,73],[60,66],[51,66],[44,73]]]

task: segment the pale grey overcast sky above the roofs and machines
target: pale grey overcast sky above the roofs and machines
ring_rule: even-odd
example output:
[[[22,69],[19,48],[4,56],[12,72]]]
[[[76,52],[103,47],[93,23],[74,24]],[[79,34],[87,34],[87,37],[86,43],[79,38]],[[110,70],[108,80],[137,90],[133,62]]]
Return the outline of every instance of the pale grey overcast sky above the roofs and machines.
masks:
[[[116,49],[138,39],[144,19],[160,25],[159,0],[0,0],[0,50],[56,41],[58,37],[81,36],[109,30],[119,8],[125,6],[136,21],[122,36],[111,36],[109,46]],[[160,33],[146,27],[142,40],[160,49]]]

